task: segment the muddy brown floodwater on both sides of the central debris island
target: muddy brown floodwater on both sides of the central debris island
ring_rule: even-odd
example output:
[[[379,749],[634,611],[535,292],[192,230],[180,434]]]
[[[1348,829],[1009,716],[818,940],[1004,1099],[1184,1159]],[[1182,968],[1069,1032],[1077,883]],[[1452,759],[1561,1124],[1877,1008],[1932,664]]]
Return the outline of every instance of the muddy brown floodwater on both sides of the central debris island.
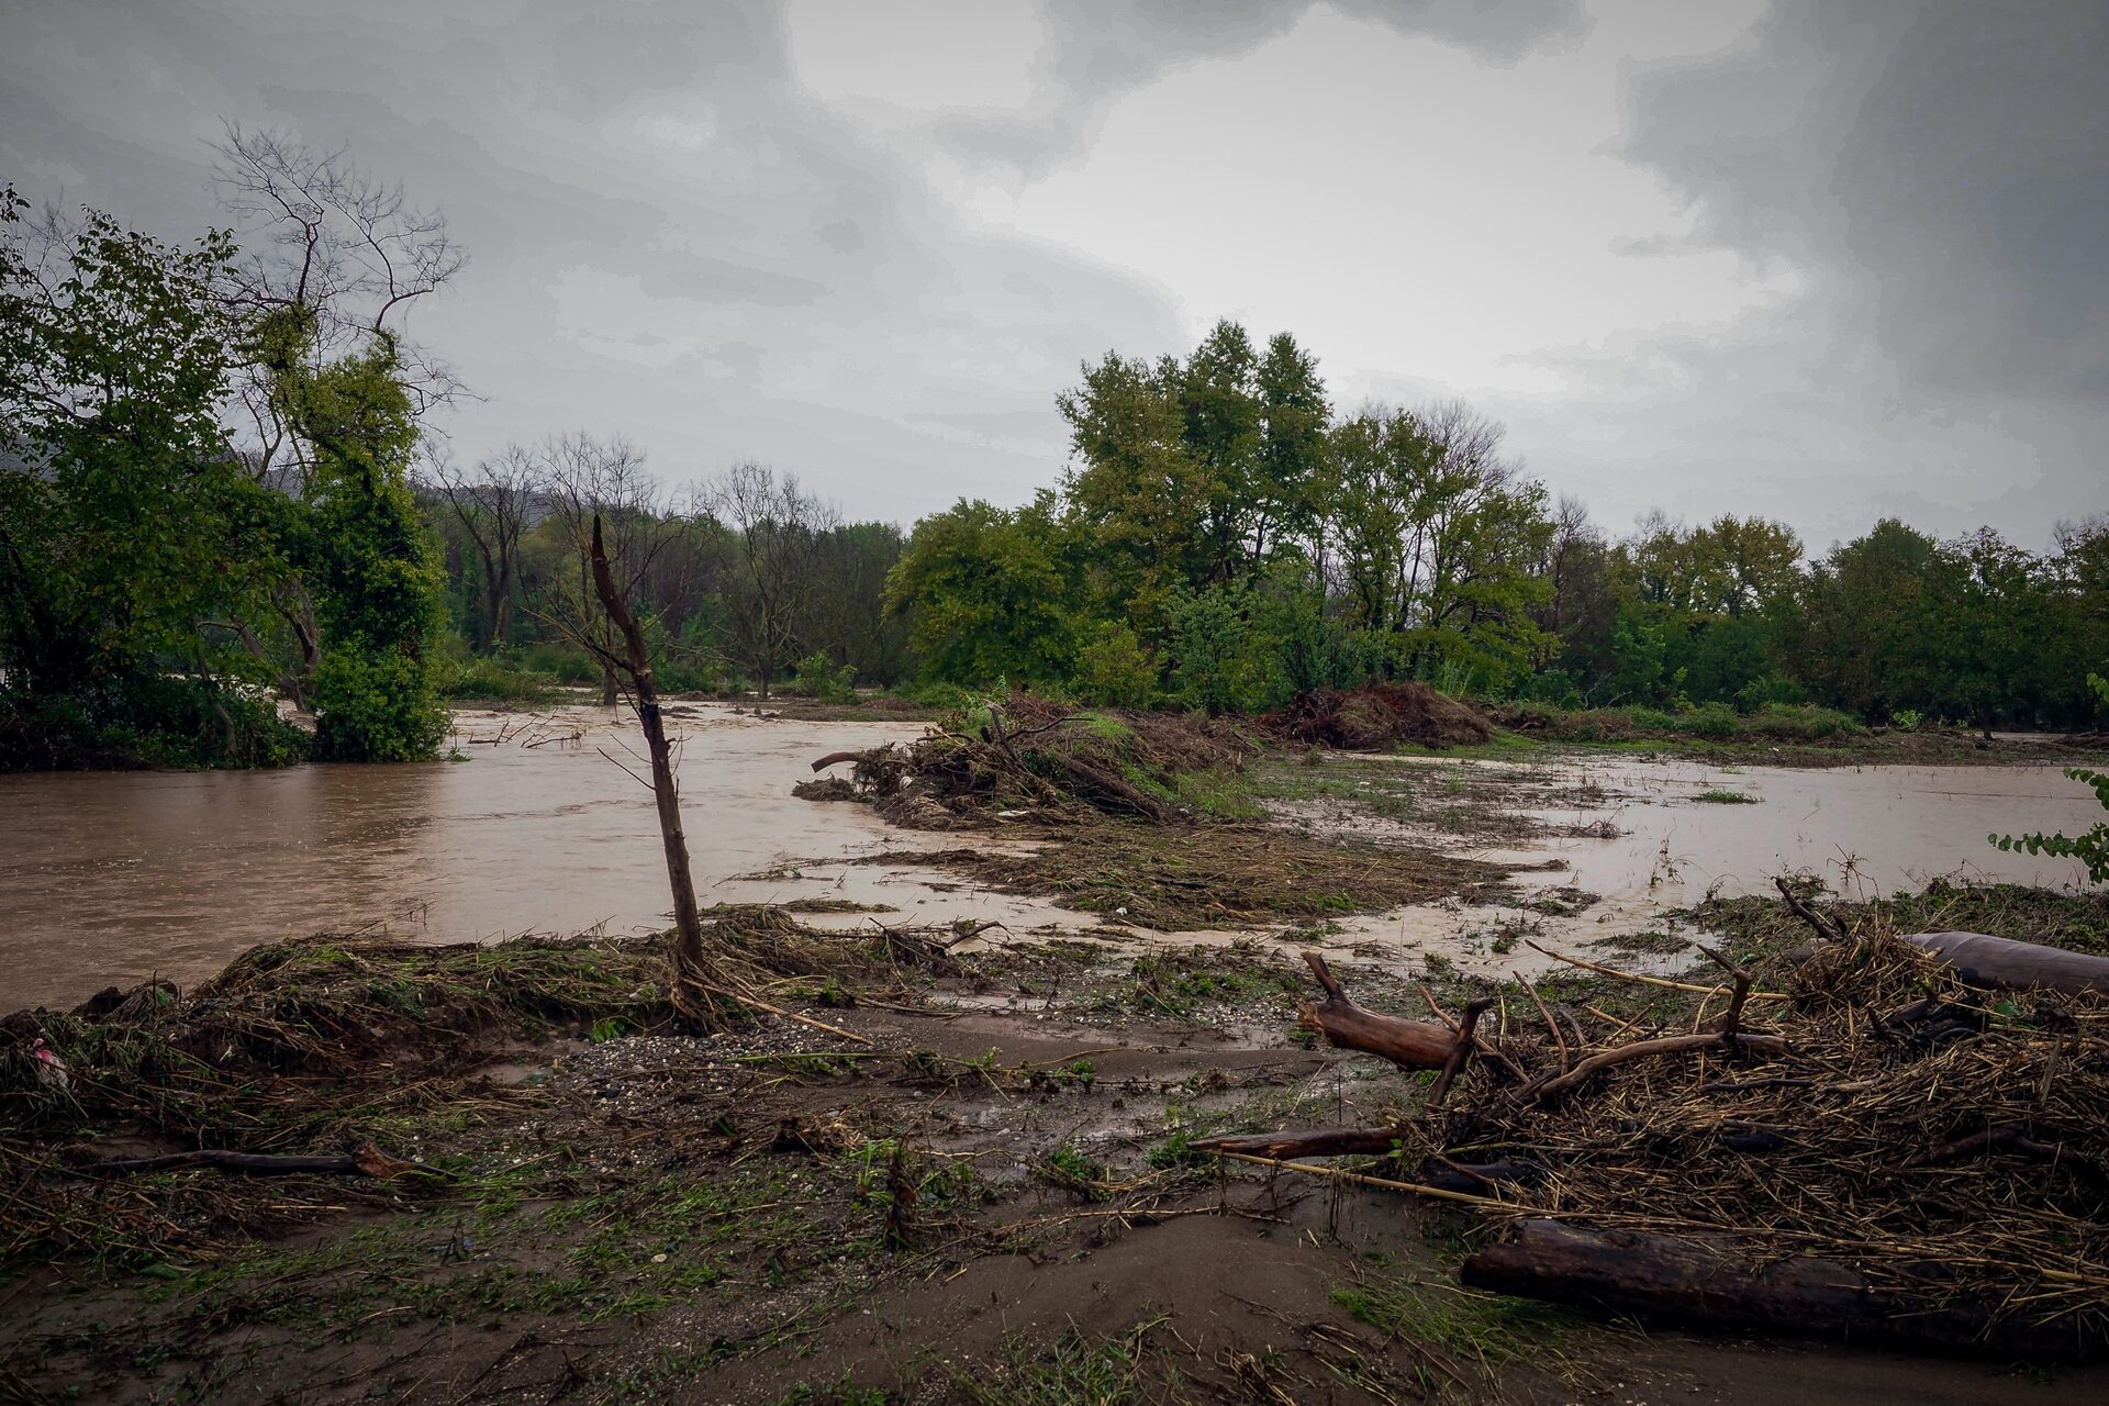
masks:
[[[858,805],[799,801],[791,784],[823,753],[913,738],[920,725],[685,712],[681,809],[704,904],[852,898],[888,904],[905,921],[1000,919],[1014,932],[1097,921],[928,871],[841,862],[930,837],[894,831]],[[483,940],[664,925],[652,797],[618,765],[643,772],[628,750],[639,746],[635,727],[599,708],[542,721],[464,712],[453,744],[466,761],[0,778],[0,1010],[72,1003],[154,974],[192,982],[289,934]],[[2073,831],[2101,816],[2092,793],[2054,767],[1727,774],[1630,757],[1552,767],[1529,767],[1531,784],[1518,774],[1518,795],[1565,795],[1540,814],[1559,824],[1607,820],[1620,835],[1468,852],[1561,858],[1565,871],[1527,883],[1588,890],[1599,904],[1567,919],[1413,909],[1358,919],[1343,940],[1381,940],[1402,957],[1459,949],[1466,965],[1483,965],[1470,957],[1485,957],[1504,921],[1573,944],[1645,930],[1708,890],[1757,892],[1782,871],[1816,871],[1843,892],[1892,892],[1949,873],[2065,885],[2082,879],[2069,860],[1999,854],[1985,833]],[[1700,803],[1708,788],[1759,803]],[[1514,965],[1510,949],[1493,965]]]

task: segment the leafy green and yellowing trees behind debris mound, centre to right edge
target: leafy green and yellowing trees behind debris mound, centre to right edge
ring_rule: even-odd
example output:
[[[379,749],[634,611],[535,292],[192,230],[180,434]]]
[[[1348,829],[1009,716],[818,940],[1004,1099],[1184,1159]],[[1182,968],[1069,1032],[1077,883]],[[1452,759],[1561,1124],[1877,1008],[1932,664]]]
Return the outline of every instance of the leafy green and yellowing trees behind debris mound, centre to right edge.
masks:
[[[1569,708],[2098,715],[2103,516],[2046,554],[1894,519],[1814,561],[1765,519],[1613,538],[1470,407],[1337,413],[1310,352],[1236,323],[1185,358],[1086,365],[1059,407],[1061,481],[924,519],[888,578],[930,677],[1211,710],[1426,679]]]

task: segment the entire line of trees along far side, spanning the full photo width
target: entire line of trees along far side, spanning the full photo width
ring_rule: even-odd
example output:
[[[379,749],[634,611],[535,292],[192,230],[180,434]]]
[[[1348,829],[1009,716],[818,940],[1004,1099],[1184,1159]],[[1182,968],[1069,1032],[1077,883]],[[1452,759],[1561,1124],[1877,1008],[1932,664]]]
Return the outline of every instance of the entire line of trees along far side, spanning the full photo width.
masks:
[[[1316,356],[1217,325],[1057,396],[1023,506],[903,531],[736,464],[671,493],[622,436],[460,466],[405,331],[464,266],[342,152],[230,129],[228,230],[165,242],[0,198],[0,765],[432,755],[447,694],[614,698],[593,521],[662,683],[1029,685],[1244,712],[1426,679],[1590,706],[2098,721],[2109,519],[2048,552],[1898,521],[1613,535],[1462,403],[1333,405]],[[278,721],[287,700],[312,744]]]

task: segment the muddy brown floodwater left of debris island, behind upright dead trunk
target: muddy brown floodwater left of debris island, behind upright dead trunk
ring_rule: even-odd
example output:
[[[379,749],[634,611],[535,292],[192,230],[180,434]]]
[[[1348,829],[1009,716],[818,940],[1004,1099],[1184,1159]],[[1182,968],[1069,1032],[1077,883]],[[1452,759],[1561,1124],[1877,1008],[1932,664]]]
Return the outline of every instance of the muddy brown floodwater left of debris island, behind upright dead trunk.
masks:
[[[913,738],[920,723],[673,712],[704,904],[850,898],[1021,932],[1090,921],[928,871],[787,871],[920,843],[863,805],[791,795],[814,757]],[[468,761],[0,776],[0,1012],[156,974],[188,984],[312,932],[445,942],[666,925],[652,793],[612,761],[645,774],[633,721],[460,712],[451,744]]]

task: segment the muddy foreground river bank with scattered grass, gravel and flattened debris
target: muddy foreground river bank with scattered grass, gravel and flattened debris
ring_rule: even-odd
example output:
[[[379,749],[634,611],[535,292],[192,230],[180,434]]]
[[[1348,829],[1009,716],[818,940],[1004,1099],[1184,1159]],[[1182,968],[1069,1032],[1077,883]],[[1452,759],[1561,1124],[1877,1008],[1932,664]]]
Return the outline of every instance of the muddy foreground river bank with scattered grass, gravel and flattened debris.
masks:
[[[2023,911],[1972,894],[1949,902]],[[2048,936],[2109,946],[2096,900],[2031,902]],[[1767,980],[1803,936],[1767,900],[1691,917]],[[683,1035],[658,946],[607,938],[289,942],[188,995],[11,1018],[15,1400],[2079,1402],[2109,1385],[1639,1334],[1459,1290],[1472,1216],[1198,1155],[1202,1134],[1375,1121],[1426,1096],[1295,1029],[1312,987],[1278,944],[1071,934],[917,963],[869,927],[713,921],[835,1033]],[[1409,1014],[1487,989],[1337,970]],[[1537,991],[1672,1027],[1696,999],[1580,968]],[[70,1090],[23,1077],[32,1024]],[[367,1143],[437,1174],[63,1170]]]

